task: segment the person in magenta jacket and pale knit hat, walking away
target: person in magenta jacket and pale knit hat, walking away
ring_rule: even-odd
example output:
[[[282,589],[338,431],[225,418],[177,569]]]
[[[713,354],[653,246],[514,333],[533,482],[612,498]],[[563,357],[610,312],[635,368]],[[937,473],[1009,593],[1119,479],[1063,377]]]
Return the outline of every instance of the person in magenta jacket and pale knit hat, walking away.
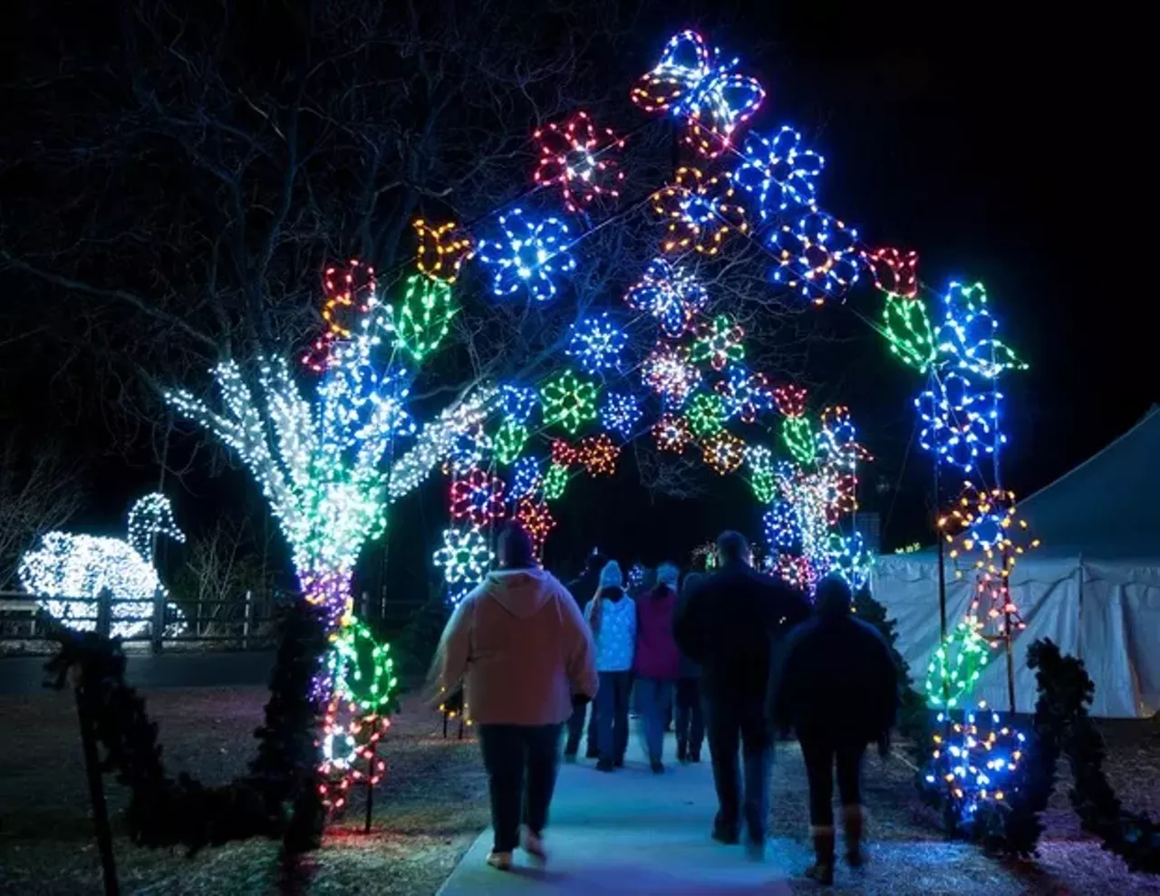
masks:
[[[637,600],[637,656],[633,663],[637,712],[644,728],[648,765],[665,771],[665,719],[673,705],[673,685],[681,673],[681,655],[673,638],[676,583],[681,570],[672,563],[657,568],[657,585]]]

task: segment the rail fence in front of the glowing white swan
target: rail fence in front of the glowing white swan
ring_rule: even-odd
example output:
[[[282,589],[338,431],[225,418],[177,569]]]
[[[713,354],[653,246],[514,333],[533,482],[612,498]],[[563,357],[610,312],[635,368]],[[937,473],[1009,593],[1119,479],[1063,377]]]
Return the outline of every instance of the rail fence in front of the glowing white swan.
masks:
[[[90,597],[51,599],[64,605],[66,625],[104,635],[119,634],[126,644],[158,654],[162,650],[269,649],[274,646],[281,609],[297,598],[298,595],[290,592],[247,591],[226,600],[182,602],[180,607],[158,598],[152,602],[148,614],[117,612],[118,603],[125,602],[117,602],[108,592],[95,600]],[[142,604],[139,600],[128,603],[138,607]],[[377,627],[393,636],[422,604],[421,600],[376,598],[363,592],[355,599],[355,613],[364,620],[376,621]],[[41,654],[52,649],[39,609],[41,600],[34,595],[0,591],[0,655]]]

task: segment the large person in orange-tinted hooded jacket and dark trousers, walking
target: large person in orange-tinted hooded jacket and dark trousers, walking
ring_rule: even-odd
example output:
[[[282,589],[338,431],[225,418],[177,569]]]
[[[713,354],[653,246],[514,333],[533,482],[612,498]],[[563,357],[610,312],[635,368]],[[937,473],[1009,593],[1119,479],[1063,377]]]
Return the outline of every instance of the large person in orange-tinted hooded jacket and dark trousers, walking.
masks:
[[[494,843],[487,864],[507,870],[521,843],[546,861],[543,835],[556,787],[560,726],[574,702],[596,695],[588,626],[556,577],[537,568],[531,539],[509,524],[496,545],[499,569],[448,621],[433,671],[441,692],[465,683],[479,731]]]

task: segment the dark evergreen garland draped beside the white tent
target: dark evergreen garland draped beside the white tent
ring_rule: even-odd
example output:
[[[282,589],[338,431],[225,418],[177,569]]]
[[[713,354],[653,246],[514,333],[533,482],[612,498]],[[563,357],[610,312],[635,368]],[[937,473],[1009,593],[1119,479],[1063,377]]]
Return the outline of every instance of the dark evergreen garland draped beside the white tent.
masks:
[[[1050,639],[1028,649],[1028,668],[1036,670],[1039,698],[1029,736],[1029,760],[1021,764],[1021,780],[1005,803],[980,807],[969,831],[972,839],[995,853],[1028,858],[1035,853],[1046,808],[1056,784],[1056,763],[1067,757],[1074,786],[1072,808],[1085,831],[1100,838],[1103,848],[1119,855],[1133,872],[1160,874],[1160,824],[1121,804],[1103,771],[1104,743],[1087,706],[1095,684],[1083,662],[1064,655]]]

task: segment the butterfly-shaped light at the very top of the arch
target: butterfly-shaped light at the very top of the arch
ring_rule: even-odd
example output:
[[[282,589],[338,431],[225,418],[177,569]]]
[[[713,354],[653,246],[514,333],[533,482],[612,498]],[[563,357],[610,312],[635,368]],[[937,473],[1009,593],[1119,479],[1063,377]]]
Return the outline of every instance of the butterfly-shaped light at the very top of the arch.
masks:
[[[672,111],[686,118],[684,141],[712,158],[732,144],[733,133],[766,99],[755,78],[731,73],[738,61],[723,60],[696,31],[680,31],[630,99],[646,112]]]

